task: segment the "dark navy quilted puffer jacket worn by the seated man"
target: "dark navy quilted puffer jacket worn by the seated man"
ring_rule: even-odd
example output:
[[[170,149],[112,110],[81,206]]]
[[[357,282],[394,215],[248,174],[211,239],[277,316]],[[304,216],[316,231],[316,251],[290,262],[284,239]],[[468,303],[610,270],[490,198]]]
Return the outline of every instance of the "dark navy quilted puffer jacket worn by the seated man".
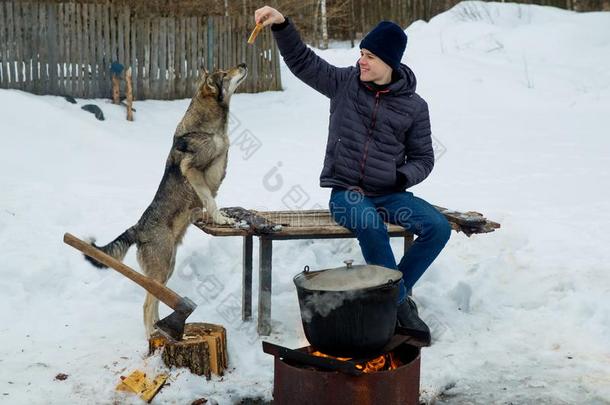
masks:
[[[290,21],[273,26],[273,35],[292,73],[330,98],[321,187],[360,187],[377,196],[404,191],[430,174],[428,105],[415,93],[411,69],[402,64],[398,80],[375,91],[360,81],[357,65],[340,68],[317,56]]]

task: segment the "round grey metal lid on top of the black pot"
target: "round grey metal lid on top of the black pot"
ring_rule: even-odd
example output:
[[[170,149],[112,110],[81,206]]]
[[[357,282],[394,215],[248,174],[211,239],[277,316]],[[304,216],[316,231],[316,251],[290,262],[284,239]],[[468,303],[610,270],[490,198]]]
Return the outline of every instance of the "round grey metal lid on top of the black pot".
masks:
[[[343,267],[333,269],[305,271],[297,275],[294,282],[297,286],[317,291],[347,291],[379,287],[388,282],[402,278],[398,270],[376,265],[352,265],[353,260],[345,260]]]

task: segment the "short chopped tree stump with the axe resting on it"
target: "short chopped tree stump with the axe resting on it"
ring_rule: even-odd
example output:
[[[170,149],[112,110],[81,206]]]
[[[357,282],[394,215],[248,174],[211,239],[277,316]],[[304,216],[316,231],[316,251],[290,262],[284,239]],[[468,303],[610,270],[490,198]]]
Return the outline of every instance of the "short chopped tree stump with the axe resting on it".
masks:
[[[187,367],[193,374],[223,375],[227,368],[227,332],[211,323],[187,323],[179,342],[170,342],[159,332],[148,339],[148,354],[162,348],[161,358],[168,367]]]

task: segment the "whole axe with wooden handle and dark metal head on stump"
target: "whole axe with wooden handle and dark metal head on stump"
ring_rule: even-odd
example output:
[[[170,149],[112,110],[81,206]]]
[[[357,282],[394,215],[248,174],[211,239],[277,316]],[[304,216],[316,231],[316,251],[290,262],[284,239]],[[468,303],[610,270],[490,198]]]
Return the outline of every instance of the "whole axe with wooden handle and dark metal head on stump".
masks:
[[[64,234],[64,242],[73,248],[80,250],[85,255],[97,260],[100,263],[105,264],[108,267],[113,268],[125,277],[135,281],[146,291],[157,297],[160,301],[164,302],[167,306],[172,308],[172,312],[167,317],[157,321],[155,327],[165,337],[172,341],[179,341],[182,339],[184,334],[184,323],[186,318],[197,308],[197,305],[187,297],[181,297],[174,291],[167,288],[165,285],[153,280],[150,277],[146,277],[131,267],[121,263],[114,257],[107,255],[101,250],[91,246],[89,243],[84,242],[74,235],[69,233]]]

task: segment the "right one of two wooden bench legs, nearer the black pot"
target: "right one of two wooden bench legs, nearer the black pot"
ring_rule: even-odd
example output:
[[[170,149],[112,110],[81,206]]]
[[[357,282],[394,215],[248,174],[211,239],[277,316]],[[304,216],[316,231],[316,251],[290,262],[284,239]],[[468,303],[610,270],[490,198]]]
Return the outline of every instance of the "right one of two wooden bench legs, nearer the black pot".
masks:
[[[259,237],[258,334],[271,333],[271,249],[272,240]]]

